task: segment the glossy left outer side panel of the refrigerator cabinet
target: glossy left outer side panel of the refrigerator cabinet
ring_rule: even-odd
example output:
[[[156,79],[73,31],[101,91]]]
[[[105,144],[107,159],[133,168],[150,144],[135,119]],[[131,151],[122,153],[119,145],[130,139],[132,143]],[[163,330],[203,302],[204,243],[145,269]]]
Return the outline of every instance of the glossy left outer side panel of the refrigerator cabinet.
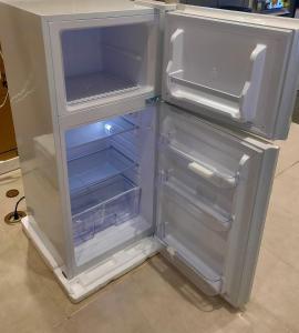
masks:
[[[58,176],[60,142],[49,94],[42,20],[1,3],[0,36],[28,213],[52,243],[61,265],[66,261],[66,242]]]

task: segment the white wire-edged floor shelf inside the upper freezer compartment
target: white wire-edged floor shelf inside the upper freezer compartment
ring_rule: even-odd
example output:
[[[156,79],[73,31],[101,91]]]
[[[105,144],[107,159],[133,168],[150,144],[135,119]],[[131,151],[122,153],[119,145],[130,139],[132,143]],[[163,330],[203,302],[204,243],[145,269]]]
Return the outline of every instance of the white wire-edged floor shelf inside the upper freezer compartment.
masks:
[[[109,72],[96,72],[65,78],[68,102],[103,98],[110,94],[123,93],[140,87],[130,80]]]

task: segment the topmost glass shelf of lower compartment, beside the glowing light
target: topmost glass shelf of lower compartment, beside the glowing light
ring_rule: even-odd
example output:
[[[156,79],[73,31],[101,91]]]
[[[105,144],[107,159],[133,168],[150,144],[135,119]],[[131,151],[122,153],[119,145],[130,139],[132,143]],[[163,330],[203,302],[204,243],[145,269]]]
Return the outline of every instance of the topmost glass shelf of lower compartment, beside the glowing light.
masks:
[[[115,117],[69,130],[65,134],[65,143],[68,150],[71,150],[94,141],[130,132],[137,128],[136,124],[128,121],[125,117]]]

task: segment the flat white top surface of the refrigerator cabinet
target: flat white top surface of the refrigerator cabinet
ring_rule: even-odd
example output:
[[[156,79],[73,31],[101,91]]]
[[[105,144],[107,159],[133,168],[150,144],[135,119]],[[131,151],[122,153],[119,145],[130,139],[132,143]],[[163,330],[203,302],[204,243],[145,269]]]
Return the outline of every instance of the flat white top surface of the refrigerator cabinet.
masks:
[[[100,17],[118,17],[153,13],[153,9],[135,4],[128,0],[1,0],[11,7],[41,16],[49,20]]]

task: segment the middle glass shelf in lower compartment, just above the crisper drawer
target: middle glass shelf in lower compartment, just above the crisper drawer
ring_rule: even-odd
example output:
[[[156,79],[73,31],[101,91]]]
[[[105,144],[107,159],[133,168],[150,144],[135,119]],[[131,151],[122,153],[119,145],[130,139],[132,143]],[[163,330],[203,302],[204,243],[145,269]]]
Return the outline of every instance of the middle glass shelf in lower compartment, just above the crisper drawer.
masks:
[[[93,184],[103,182],[136,167],[137,163],[123,155],[113,147],[69,161],[68,170],[71,195],[81,191],[84,192]]]

